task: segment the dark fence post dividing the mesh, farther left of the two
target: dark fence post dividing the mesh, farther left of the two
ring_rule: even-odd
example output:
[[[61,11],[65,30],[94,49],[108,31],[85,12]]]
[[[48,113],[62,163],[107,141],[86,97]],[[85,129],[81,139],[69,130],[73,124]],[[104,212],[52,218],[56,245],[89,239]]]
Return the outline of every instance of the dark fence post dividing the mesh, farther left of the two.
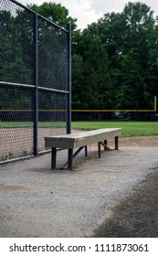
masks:
[[[34,14],[34,155],[38,154],[37,149],[37,122],[38,122],[38,69],[37,69],[37,14]]]

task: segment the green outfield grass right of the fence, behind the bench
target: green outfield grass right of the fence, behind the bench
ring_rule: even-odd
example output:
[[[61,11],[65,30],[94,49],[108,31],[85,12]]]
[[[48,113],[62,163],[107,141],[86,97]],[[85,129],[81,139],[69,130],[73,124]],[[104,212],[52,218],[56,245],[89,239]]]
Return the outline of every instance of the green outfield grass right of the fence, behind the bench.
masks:
[[[158,135],[158,122],[72,122],[72,128],[83,130],[121,128],[121,137]]]

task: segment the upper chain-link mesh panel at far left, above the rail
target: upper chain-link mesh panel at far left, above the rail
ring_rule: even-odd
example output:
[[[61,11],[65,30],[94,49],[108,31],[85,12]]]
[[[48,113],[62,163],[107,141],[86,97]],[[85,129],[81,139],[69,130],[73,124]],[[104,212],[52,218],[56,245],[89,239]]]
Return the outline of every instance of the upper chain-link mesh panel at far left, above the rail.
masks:
[[[0,80],[33,84],[33,16],[0,1]]]

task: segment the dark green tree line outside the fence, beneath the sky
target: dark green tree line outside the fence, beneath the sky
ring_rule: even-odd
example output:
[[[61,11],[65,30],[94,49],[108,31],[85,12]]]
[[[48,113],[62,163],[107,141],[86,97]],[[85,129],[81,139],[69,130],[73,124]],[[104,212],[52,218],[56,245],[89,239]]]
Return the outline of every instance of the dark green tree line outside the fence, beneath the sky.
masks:
[[[129,2],[121,13],[107,13],[83,30],[60,4],[28,6],[61,27],[71,22],[73,110],[153,110],[158,95],[158,16],[150,6]],[[101,112],[100,118],[111,114]],[[131,116],[153,118],[149,112]]]

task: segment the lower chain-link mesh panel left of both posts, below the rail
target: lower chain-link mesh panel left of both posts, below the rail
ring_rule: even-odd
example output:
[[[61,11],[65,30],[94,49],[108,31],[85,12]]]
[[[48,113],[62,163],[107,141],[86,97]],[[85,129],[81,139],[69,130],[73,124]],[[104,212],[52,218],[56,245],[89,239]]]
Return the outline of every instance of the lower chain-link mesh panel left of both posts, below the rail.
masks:
[[[1,161],[33,154],[32,91],[1,88]],[[3,102],[2,102],[3,99]],[[16,107],[16,108],[15,108]]]

